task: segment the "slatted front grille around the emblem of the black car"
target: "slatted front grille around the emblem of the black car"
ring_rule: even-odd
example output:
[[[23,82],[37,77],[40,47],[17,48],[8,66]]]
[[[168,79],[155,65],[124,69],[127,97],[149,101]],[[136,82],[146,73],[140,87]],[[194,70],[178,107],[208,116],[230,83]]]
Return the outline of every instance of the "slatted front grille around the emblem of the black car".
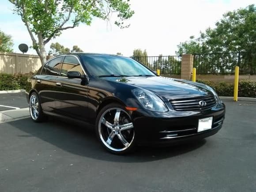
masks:
[[[200,101],[206,102],[206,105],[200,106]],[[216,99],[214,95],[207,95],[196,98],[170,99],[169,102],[172,104],[173,109],[176,111],[200,111],[210,109],[216,105]]]

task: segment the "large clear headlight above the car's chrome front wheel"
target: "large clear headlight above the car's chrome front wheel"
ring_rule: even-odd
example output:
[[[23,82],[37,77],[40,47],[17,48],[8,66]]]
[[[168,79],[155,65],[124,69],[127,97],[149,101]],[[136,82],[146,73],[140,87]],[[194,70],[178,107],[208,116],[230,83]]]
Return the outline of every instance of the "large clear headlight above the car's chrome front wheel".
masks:
[[[134,89],[132,90],[132,93],[145,109],[157,112],[168,111],[165,103],[151,91],[144,89]]]

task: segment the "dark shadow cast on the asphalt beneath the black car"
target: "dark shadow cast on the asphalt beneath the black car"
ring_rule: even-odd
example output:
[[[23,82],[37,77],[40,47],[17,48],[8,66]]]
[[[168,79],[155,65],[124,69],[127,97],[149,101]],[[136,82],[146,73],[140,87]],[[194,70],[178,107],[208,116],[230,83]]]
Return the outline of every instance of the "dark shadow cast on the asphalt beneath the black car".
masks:
[[[30,118],[8,122],[27,135],[37,137],[69,153],[111,162],[150,162],[196,150],[206,143],[205,139],[171,147],[137,147],[127,155],[107,152],[96,138],[94,129],[83,123],[51,117],[43,123],[34,123]],[[36,146],[34,146],[36,147]]]

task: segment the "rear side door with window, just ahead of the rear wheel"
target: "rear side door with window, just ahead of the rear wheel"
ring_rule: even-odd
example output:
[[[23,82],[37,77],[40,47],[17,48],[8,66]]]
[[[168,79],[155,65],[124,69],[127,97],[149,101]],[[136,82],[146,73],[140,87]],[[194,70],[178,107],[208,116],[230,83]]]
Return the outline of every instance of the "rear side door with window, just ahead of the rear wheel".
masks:
[[[41,106],[44,111],[55,112],[56,110],[56,78],[60,75],[60,68],[64,56],[56,57],[47,62],[36,75],[35,89],[41,98]]]

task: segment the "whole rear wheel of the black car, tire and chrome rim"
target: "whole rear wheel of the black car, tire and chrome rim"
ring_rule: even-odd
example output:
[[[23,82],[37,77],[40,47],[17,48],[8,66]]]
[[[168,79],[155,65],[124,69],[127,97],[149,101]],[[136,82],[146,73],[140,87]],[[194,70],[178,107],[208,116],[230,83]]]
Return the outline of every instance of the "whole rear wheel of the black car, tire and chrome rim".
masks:
[[[34,98],[35,98],[34,100],[35,104],[33,104],[33,101],[31,101]],[[37,115],[35,115],[34,110],[38,112],[38,113],[35,112]],[[41,102],[36,92],[33,92],[30,94],[29,111],[30,111],[30,117],[34,122],[39,123],[45,120],[45,115],[43,114],[43,111],[42,111]]]

